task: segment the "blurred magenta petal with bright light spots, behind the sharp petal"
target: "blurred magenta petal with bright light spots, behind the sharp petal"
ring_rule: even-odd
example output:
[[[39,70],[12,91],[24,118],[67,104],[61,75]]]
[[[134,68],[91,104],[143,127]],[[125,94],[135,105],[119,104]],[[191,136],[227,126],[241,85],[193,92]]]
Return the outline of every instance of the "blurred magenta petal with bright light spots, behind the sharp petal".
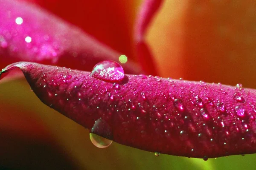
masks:
[[[89,71],[102,60],[118,62],[120,53],[81,29],[25,2],[0,1],[0,66],[29,61]],[[132,62],[127,73],[140,73]]]

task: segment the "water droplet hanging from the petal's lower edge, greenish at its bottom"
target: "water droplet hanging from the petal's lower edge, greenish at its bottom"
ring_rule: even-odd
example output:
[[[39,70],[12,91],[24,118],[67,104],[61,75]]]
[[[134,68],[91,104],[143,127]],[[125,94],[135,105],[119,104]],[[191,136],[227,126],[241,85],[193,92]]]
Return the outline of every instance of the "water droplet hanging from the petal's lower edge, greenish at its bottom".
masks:
[[[104,119],[96,120],[90,130],[90,140],[94,146],[99,148],[108,147],[112,143],[112,138],[112,130],[108,123]]]

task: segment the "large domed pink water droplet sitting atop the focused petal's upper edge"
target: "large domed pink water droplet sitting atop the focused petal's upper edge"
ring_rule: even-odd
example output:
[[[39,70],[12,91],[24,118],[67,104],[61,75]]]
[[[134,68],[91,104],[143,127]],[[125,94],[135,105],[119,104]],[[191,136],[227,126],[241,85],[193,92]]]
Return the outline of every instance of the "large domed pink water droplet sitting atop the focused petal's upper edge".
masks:
[[[107,82],[119,82],[124,78],[125,72],[117,62],[106,60],[97,63],[90,76]]]

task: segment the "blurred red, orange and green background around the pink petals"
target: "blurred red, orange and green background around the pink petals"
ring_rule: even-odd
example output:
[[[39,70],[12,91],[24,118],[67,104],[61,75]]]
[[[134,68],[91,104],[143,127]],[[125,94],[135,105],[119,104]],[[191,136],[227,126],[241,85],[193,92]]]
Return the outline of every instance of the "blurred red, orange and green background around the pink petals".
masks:
[[[29,2],[138,62],[133,37],[141,0]],[[256,88],[255,11],[250,0],[164,0],[145,36],[159,76]],[[156,157],[115,142],[96,148],[88,130],[42,104],[24,78],[0,83],[0,139],[2,169],[250,170],[256,159]]]

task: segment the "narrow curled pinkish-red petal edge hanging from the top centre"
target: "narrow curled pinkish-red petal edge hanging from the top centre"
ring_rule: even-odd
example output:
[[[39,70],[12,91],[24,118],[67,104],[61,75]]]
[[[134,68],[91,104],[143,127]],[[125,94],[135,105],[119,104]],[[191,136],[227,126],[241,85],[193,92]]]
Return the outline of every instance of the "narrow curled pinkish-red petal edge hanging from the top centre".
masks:
[[[144,0],[140,7],[140,12],[137,16],[137,21],[135,25],[135,41],[137,45],[137,55],[139,61],[148,74],[157,75],[157,69],[155,66],[154,59],[145,43],[145,34],[147,28],[154,17],[154,14],[159,9],[163,0]]]

